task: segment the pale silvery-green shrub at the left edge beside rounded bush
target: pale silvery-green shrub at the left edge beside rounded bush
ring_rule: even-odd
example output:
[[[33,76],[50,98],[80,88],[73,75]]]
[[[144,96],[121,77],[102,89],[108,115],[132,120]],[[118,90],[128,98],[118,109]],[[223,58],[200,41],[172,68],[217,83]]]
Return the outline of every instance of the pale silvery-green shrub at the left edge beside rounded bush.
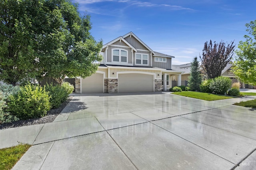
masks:
[[[8,105],[6,104],[9,96],[18,93],[19,90],[20,90],[19,86],[0,84],[0,124],[10,123],[10,122],[19,120],[18,117],[10,114],[7,111]]]

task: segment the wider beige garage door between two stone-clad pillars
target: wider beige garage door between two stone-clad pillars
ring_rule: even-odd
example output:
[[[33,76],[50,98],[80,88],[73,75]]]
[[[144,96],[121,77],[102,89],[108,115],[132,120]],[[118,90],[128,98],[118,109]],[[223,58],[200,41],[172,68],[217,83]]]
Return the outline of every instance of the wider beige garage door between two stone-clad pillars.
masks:
[[[153,92],[153,75],[118,74],[118,92]]]

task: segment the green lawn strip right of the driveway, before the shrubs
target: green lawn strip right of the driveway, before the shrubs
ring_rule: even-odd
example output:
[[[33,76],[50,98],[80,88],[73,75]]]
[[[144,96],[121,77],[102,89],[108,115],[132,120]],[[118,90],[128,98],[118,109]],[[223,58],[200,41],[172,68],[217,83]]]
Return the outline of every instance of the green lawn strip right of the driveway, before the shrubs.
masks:
[[[222,99],[230,99],[230,96],[220,96],[217,94],[211,93],[202,93],[202,92],[173,92],[172,94],[176,94],[179,96],[186,96],[190,98],[196,98],[201,100],[213,101],[213,100],[222,100]]]

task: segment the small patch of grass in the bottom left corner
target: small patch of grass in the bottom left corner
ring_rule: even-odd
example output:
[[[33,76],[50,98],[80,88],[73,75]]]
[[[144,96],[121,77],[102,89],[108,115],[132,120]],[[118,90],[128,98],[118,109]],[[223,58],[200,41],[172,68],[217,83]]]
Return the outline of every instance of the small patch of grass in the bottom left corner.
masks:
[[[0,149],[0,170],[10,170],[30,146],[21,143],[15,147]]]

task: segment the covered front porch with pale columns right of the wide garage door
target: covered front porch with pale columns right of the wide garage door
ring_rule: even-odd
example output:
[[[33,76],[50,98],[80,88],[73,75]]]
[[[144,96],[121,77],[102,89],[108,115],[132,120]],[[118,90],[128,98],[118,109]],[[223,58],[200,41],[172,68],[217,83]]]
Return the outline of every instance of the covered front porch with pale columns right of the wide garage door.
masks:
[[[181,74],[183,72],[167,70],[162,72],[162,90],[168,91],[169,88],[174,86],[181,86]],[[176,80],[177,79],[177,80]],[[173,84],[172,81],[177,81],[177,84]]]

